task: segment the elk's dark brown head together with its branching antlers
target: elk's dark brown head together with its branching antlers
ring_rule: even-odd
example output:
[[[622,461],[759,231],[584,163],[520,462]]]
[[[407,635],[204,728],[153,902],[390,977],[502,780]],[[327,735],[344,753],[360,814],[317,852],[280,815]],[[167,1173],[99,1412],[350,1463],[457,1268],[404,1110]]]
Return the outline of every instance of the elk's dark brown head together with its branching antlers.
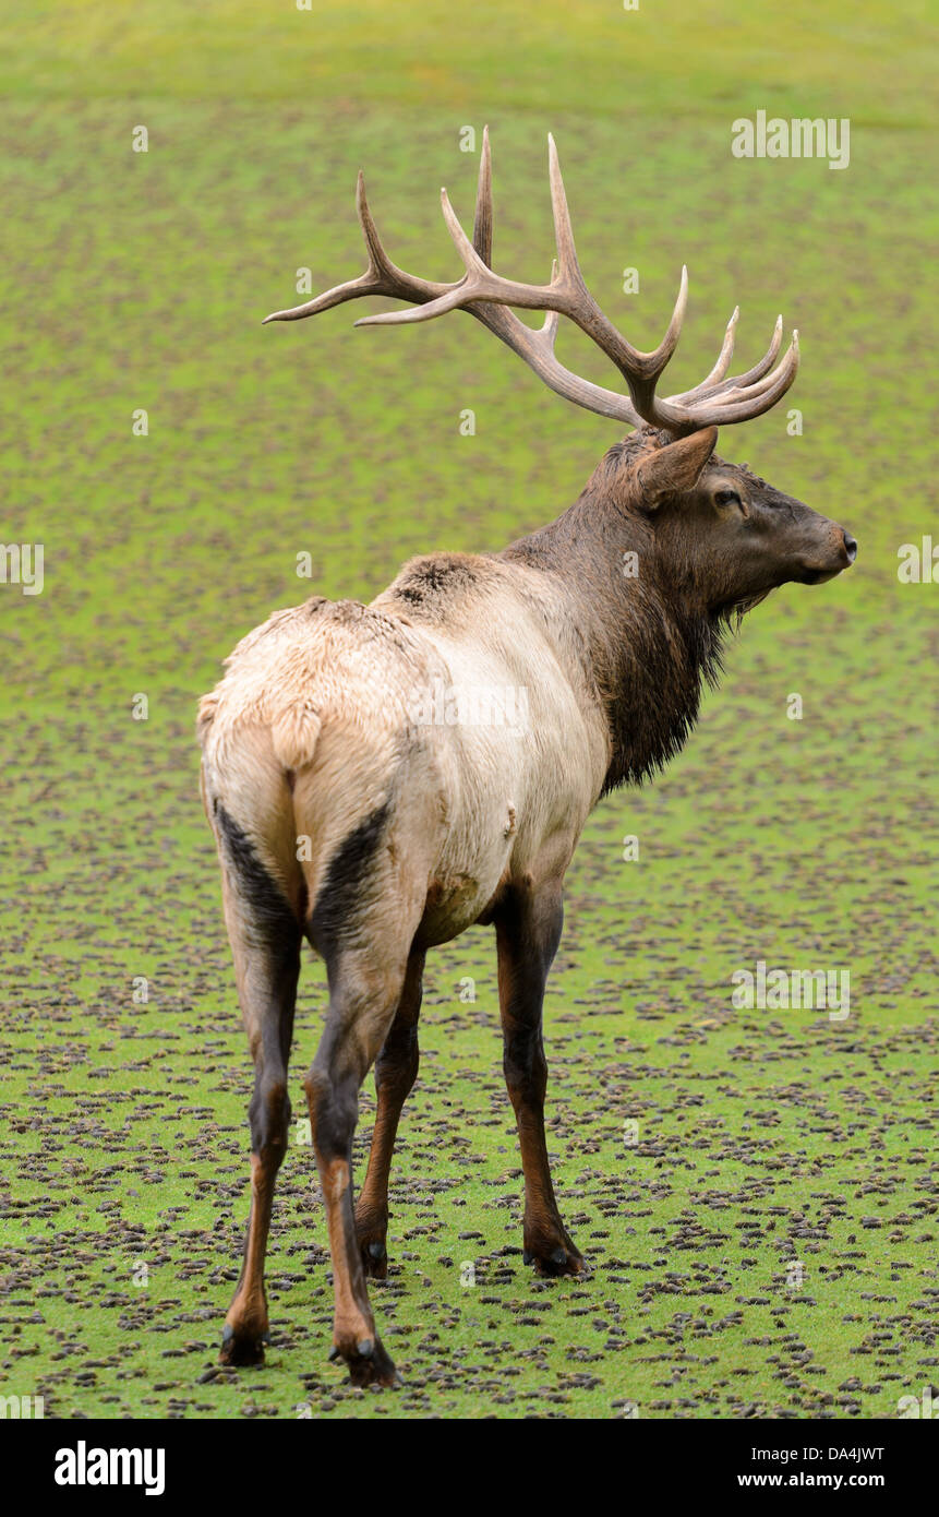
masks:
[[[587,290],[551,135],[548,150],[557,258],[546,285],[505,279],[491,269],[491,159],[485,129],[472,241],[441,190],[443,215],[466,267],[461,279],[435,284],[391,262],[372,220],[360,171],[356,206],[369,252],[367,270],[305,305],[275,311],[265,322],[296,322],[367,294],[393,296],[410,302],[411,308],[367,316],[356,326],[402,326],[466,309],[557,394],[637,429],[607,455],[592,484],[599,484],[602,475],[605,498],[645,520],[646,540],[651,534],[654,552],[667,566],[672,586],[680,586],[701,611],[725,614],[752,605],[787,581],[821,584],[840,573],[857,554],[849,532],[775,490],[745,464],[727,463],[714,454],[719,426],[762,416],[786,394],[799,366],[798,332],[793,331],[777,363],[783,340],[780,316],[763,358],[745,373],[727,378],[737,308],[707,378],[681,394],[657,394],[658,379],[681,332],[687,269],[681,270],[678,299],[658,347],[649,353],[633,347]],[[545,311],[543,326],[526,326],[511,306]],[[561,316],[579,326],[613,361],[628,394],[592,384],[560,363],[555,337]]]

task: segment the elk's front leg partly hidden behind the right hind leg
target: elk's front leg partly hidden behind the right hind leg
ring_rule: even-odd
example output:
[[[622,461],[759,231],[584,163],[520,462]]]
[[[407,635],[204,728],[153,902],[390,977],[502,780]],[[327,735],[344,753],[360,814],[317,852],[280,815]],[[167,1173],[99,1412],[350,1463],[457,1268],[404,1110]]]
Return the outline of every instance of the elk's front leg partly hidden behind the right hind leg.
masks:
[[[376,1280],[388,1273],[388,1174],[400,1109],[417,1079],[417,1018],[423,975],[423,953],[411,953],[394,1021],[375,1060],[378,1112],[369,1151],[366,1182],[355,1208],[355,1232],[363,1270]]]

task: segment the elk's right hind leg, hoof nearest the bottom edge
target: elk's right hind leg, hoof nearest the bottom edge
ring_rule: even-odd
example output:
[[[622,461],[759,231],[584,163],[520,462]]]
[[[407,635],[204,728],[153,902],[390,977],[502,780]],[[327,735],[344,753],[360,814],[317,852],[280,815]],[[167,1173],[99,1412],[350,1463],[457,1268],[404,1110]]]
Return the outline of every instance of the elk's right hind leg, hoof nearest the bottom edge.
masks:
[[[309,1123],[332,1253],[335,1312],[332,1358],[343,1358],[353,1385],[394,1385],[397,1376],[375,1330],[352,1211],[352,1135],[358,1092],[382,1047],[405,981],[373,950],[328,960],[329,1012],[306,1076]]]

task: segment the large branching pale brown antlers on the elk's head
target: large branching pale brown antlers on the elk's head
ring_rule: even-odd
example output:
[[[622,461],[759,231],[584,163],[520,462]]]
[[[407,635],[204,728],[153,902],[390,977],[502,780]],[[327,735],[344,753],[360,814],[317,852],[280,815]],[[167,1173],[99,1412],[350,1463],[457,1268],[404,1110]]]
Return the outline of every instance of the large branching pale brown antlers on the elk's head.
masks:
[[[488,127],[482,133],[482,153],[479,158],[479,187],[476,191],[476,214],[473,218],[473,240],[467,238],[446,190],[440,191],[443,215],[451,237],[463,258],[466,273],[454,284],[435,284],[431,279],[417,279],[404,269],[397,269],[385,253],[369,202],[366,200],[366,182],[360,170],[356,188],[358,218],[369,250],[369,267],[358,279],[328,290],[325,294],[308,300],[305,305],[293,306],[290,311],[275,311],[267,316],[267,322],[296,322],[305,316],[316,316],[328,311],[343,300],[356,300],[366,294],[393,296],[408,300],[413,309],[385,311],[379,316],[361,317],[356,326],[404,326],[413,322],[429,322],[435,316],[448,311],[466,309],[484,326],[495,332],[507,347],[534,369],[540,379],[566,400],[583,405],[587,411],[596,411],[616,422],[627,422],[630,426],[658,426],[677,435],[699,431],[704,426],[727,426],[734,422],[746,422],[752,416],[762,416],[789,390],[799,366],[798,332],[793,331],[792,343],[781,363],[774,369],[781,340],[783,317],[777,319],[775,331],[768,352],[758,364],[746,373],[727,379],[727,370],[734,352],[734,331],[739,308],[734,309],[718,363],[701,384],[683,394],[661,397],[655,393],[655,385],[669,358],[675,352],[684,308],[687,303],[687,269],[681,270],[678,299],[667,331],[658,347],[651,353],[643,353],[633,347],[630,341],[604,316],[596,300],[584,284],[584,276],[576,259],[573,246],[573,231],[567,211],[567,196],[564,181],[558,165],[558,155],[554,138],[548,137],[551,203],[554,209],[554,232],[557,243],[557,258],[551,269],[551,281],[546,285],[520,284],[514,279],[504,279],[491,269],[491,158],[488,147]],[[540,328],[526,326],[508,309],[545,311],[545,325]],[[554,344],[558,329],[558,319],[569,317],[583,332],[590,337],[617,367],[627,382],[630,396],[602,385],[592,384],[566,369],[555,355]],[[772,370],[772,372],[771,372]]]

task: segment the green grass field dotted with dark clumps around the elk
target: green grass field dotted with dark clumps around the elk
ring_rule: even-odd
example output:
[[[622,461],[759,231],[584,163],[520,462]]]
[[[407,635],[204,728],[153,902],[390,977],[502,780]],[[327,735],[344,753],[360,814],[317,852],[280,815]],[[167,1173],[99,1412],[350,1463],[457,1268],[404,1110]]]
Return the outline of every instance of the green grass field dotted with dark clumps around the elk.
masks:
[[[58,1417],[897,1417],[939,1382],[936,587],[897,575],[900,545],[934,531],[925,5],[5,15],[2,536],[44,545],[46,583],[0,586],[0,1394]],[[849,168],[731,158],[731,121],[760,108],[849,117]],[[455,278],[438,187],[472,215],[460,132],[484,121],[501,272],[549,270],[548,129],[586,276],[639,346],[687,261],[670,388],[710,367],[737,300],[745,363],[777,309],[798,325],[795,390],[721,451],[849,526],[859,561],[745,622],[686,752],[598,809],[570,871],[549,1147],[590,1279],[522,1265],[495,942],[475,928],[428,963],[393,1267],[372,1288],[404,1388],[353,1391],[326,1362],[299,1127],[267,1364],[215,1370],[252,1076],[196,699],[273,608],[370,599],[414,552],[501,546],[617,435],[464,316],[259,325],[300,299],[297,269],[314,288],[361,270],[360,164],[394,259]],[[848,1019],[736,1010],[731,974],[758,959],[849,969]],[[296,1117],[323,1006],[311,957]],[[369,1082],[360,1157],[372,1112]]]

